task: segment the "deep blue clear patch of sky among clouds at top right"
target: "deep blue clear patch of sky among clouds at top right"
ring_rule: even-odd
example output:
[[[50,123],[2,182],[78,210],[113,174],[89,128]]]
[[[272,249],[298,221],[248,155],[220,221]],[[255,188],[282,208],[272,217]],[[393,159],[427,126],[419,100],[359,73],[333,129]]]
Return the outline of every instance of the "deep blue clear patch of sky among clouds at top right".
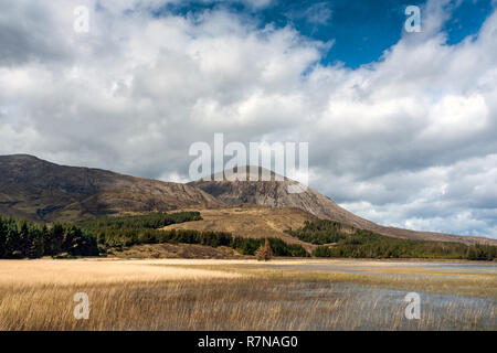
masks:
[[[401,39],[408,6],[423,9],[425,1],[304,0],[269,1],[254,7],[250,2],[205,0],[169,3],[155,13],[186,15],[207,9],[225,9],[257,21],[261,28],[267,24],[276,28],[290,25],[307,38],[332,42],[331,49],[322,55],[321,64],[341,62],[346,67],[357,68],[380,60],[383,52]],[[446,8],[452,15],[444,23],[443,31],[447,34],[447,44],[456,44],[478,32],[494,6],[491,0],[456,0]]]

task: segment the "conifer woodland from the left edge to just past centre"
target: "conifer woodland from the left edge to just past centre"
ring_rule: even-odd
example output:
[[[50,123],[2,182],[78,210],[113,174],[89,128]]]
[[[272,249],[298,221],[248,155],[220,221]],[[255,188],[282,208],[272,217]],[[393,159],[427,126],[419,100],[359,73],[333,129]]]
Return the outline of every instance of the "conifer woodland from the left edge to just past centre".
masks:
[[[155,213],[141,216],[103,217],[74,224],[35,225],[25,221],[0,218],[0,258],[41,256],[98,256],[107,250],[139,244],[198,244],[226,246],[243,255],[254,255],[265,243],[260,238],[233,237],[225,232],[159,228],[170,224],[202,220],[199,212]],[[268,239],[275,256],[307,257],[297,244]]]

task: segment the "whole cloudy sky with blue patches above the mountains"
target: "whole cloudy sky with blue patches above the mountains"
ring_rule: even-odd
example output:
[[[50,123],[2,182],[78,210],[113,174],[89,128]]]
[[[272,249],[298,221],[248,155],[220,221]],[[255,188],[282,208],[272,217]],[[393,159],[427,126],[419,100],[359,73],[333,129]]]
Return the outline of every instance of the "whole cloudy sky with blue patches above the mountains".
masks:
[[[309,186],[347,210],[497,238],[495,0],[0,8],[0,154],[184,182],[215,132],[305,141]]]

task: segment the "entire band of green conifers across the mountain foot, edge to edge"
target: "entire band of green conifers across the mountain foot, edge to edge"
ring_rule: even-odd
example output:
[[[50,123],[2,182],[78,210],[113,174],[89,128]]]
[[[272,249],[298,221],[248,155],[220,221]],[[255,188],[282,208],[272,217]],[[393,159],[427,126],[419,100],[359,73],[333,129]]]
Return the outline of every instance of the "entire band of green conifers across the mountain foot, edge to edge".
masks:
[[[105,217],[75,224],[46,225],[0,217],[0,258],[39,258],[42,256],[98,256],[108,249],[139,244],[199,244],[226,246],[243,255],[254,255],[264,245],[263,238],[233,237],[225,232],[158,228],[170,224],[202,220],[199,212],[155,213],[142,216]],[[288,234],[319,245],[316,257],[355,258],[447,258],[494,260],[497,246],[399,239],[368,231],[343,227],[338,222],[306,222]],[[275,256],[307,257],[297,244],[268,238]],[[326,244],[326,246],[325,246]]]

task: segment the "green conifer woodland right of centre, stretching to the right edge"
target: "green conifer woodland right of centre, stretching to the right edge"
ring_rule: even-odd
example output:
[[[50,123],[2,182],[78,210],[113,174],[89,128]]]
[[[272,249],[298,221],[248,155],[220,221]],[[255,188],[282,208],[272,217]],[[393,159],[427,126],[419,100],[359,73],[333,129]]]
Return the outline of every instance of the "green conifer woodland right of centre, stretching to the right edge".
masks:
[[[461,243],[410,240],[383,236],[369,231],[340,231],[340,224],[319,220],[307,222],[289,234],[304,242],[318,246],[313,255],[316,257],[355,257],[355,258],[446,258],[494,260],[497,246],[472,245]]]

